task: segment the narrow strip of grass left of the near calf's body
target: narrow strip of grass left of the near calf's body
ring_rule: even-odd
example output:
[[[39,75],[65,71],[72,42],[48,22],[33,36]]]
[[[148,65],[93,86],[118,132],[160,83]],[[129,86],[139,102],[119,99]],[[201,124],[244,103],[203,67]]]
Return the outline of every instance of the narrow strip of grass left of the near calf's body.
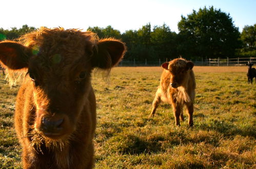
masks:
[[[0,74],[0,168],[21,168],[21,146],[18,143],[13,115],[15,110],[15,96],[18,87],[9,85]]]

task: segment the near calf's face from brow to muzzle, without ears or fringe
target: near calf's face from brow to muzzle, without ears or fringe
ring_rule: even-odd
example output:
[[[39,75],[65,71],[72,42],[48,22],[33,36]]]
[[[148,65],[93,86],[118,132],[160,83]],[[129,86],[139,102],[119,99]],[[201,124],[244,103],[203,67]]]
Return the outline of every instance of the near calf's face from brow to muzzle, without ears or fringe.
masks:
[[[86,109],[92,70],[87,60],[92,56],[86,52],[53,53],[57,54],[46,51],[32,56],[27,76],[36,106],[34,129],[46,137],[60,139],[76,129],[80,113]],[[70,56],[74,56],[72,60]]]

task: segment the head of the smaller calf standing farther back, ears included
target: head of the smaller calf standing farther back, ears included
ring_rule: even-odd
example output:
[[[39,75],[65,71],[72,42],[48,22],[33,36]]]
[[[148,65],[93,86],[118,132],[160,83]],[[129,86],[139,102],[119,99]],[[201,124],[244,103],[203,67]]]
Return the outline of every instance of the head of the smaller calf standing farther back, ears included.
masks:
[[[183,59],[174,59],[162,64],[162,68],[166,69],[170,74],[170,86],[172,88],[178,88],[186,83],[189,70],[191,70],[193,66],[193,62]]]

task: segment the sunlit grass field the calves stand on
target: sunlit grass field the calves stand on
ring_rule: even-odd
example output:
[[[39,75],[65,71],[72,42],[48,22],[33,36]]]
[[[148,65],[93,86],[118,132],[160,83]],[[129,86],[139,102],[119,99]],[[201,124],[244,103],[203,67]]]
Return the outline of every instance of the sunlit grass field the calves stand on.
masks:
[[[194,67],[194,127],[174,125],[162,103],[148,119],[160,67],[93,74],[97,99],[95,168],[256,168],[256,84],[247,67]],[[15,95],[0,77],[0,168],[21,168],[13,128]]]

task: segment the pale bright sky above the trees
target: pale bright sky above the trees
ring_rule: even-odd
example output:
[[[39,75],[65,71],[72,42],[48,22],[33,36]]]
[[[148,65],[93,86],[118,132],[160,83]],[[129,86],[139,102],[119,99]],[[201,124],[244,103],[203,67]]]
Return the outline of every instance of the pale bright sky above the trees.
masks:
[[[0,28],[63,27],[84,29],[111,26],[121,31],[166,24],[178,33],[181,15],[213,6],[229,13],[235,27],[256,24],[256,0],[4,0],[0,5]]]

